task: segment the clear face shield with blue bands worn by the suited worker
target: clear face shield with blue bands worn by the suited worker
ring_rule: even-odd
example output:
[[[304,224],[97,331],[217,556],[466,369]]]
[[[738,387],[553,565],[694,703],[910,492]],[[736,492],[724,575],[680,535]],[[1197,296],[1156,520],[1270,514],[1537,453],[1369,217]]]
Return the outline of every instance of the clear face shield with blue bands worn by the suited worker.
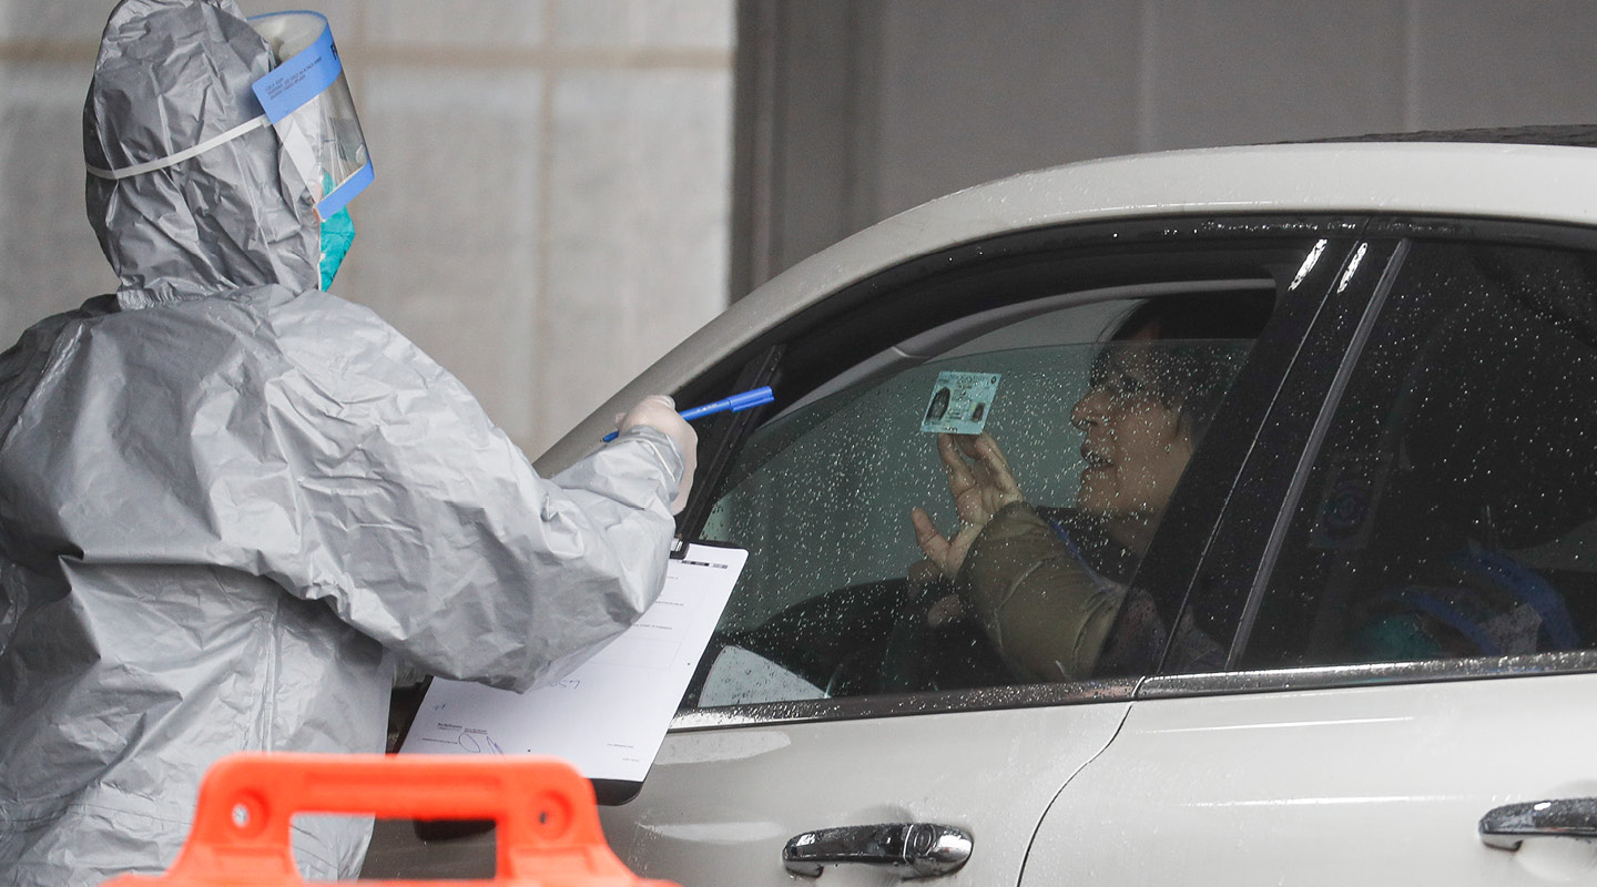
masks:
[[[278,67],[256,81],[256,97],[316,198],[316,212],[331,220],[372,183],[372,161],[332,29],[308,11],[252,16],[249,24],[278,59]]]

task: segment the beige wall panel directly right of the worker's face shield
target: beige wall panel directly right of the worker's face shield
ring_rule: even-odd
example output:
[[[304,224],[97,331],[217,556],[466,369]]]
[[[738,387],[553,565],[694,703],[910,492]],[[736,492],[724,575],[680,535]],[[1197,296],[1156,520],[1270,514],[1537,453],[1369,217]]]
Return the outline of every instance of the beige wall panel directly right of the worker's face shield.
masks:
[[[363,75],[377,180],[350,204],[355,247],[332,292],[374,308],[530,445],[543,77],[386,65]]]

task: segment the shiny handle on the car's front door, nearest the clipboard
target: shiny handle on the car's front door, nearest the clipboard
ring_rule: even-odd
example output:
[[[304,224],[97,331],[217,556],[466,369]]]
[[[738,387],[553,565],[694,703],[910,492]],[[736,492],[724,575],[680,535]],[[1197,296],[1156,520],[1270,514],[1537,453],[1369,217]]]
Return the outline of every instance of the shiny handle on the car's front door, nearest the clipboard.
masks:
[[[783,847],[787,871],[806,877],[829,865],[870,865],[899,877],[931,877],[958,869],[968,858],[969,834],[925,822],[822,828],[795,834]]]

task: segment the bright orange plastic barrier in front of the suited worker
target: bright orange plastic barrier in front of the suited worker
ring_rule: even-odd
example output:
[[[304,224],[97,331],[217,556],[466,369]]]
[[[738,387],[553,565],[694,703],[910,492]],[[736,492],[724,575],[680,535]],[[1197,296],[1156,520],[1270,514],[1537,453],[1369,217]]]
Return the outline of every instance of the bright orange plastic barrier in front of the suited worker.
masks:
[[[294,814],[495,820],[497,876],[447,882],[462,887],[676,887],[639,879],[610,852],[592,785],[561,759],[289,753],[217,761],[200,786],[193,830],[172,868],[158,877],[125,874],[104,887],[305,884],[289,846]]]

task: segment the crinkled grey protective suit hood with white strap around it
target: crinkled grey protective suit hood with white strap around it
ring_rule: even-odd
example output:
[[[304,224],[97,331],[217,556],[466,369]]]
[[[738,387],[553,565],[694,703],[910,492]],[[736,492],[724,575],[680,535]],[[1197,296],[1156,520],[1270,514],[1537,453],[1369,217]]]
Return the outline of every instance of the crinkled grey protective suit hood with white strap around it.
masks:
[[[83,160],[123,169],[188,150],[259,116],[271,70],[233,0],[123,0],[83,107]],[[319,219],[270,126],[120,180],[88,175],[89,223],[121,308],[283,284],[318,289]]]

